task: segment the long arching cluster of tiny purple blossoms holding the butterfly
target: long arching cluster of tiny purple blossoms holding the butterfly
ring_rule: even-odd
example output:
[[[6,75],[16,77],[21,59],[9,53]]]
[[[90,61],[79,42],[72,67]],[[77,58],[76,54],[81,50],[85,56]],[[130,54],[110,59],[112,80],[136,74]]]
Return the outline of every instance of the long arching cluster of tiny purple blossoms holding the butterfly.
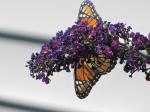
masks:
[[[150,35],[145,37],[130,30],[124,23],[100,21],[93,28],[78,21],[44,43],[40,53],[31,55],[27,65],[30,75],[48,84],[53,72],[70,72],[80,57],[105,54],[111,60],[124,63],[124,71],[130,72],[130,77],[141,70],[146,80],[150,80]]]

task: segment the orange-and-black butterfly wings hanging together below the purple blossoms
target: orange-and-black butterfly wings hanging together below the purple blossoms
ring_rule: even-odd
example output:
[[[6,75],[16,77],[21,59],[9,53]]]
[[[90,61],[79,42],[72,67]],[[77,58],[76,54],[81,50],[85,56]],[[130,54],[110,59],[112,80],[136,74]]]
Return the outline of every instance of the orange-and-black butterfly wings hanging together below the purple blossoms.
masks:
[[[80,99],[87,97],[101,75],[110,72],[116,64],[116,61],[112,62],[105,55],[91,57],[90,62],[87,60],[79,58],[74,70],[75,91]]]

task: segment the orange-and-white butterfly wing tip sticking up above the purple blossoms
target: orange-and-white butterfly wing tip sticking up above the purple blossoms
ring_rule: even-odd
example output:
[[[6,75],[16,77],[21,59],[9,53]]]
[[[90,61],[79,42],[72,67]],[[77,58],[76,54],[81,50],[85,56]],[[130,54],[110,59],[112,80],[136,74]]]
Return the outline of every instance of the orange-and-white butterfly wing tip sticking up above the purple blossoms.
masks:
[[[85,0],[79,9],[78,20],[81,22],[87,22],[88,26],[95,27],[98,21],[102,21],[100,16],[95,10],[93,3],[89,0]]]

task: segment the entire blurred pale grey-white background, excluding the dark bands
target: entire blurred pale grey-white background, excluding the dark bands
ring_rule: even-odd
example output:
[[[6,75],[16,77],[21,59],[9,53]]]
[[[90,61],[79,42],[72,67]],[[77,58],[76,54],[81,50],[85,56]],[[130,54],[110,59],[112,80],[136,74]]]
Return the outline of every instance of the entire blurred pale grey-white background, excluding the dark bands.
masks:
[[[55,35],[77,19],[81,0],[0,0],[0,31]],[[125,22],[134,31],[150,32],[149,0],[92,0],[103,20]],[[55,73],[45,85],[29,76],[25,68],[32,52],[40,46],[0,40],[0,97],[46,107],[93,112],[149,112],[150,82],[136,73],[133,79],[123,66],[101,77],[89,96],[75,95],[73,72]]]

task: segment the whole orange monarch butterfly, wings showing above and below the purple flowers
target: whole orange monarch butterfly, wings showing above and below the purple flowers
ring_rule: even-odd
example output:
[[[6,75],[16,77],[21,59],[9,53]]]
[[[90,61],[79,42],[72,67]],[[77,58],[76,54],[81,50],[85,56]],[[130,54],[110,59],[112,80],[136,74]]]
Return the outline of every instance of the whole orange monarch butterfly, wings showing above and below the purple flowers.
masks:
[[[96,24],[102,19],[96,12],[93,3],[85,0],[79,9],[78,21],[86,22],[89,27],[96,27]],[[88,58],[80,57],[74,69],[76,95],[80,99],[86,98],[101,75],[110,72],[114,68],[114,63],[104,54],[93,55]]]

